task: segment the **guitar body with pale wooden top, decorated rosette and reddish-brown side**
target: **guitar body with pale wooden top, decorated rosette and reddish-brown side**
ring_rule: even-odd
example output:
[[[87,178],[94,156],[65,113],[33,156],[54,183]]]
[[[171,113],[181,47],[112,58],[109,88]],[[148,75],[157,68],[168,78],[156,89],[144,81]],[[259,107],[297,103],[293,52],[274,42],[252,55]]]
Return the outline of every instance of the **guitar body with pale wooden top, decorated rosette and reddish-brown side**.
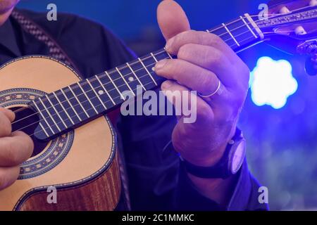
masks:
[[[78,81],[73,70],[53,58],[18,58],[0,70],[0,106],[25,107],[34,98]],[[0,191],[0,210],[115,209],[120,174],[116,135],[108,117],[51,141],[32,139],[35,153],[21,166],[18,181]]]

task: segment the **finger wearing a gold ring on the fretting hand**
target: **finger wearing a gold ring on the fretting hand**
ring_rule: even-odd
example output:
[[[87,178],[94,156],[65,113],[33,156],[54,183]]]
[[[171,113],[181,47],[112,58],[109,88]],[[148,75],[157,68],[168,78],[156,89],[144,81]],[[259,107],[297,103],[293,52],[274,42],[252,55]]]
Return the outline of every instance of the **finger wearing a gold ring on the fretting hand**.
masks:
[[[216,91],[219,84],[218,77],[210,70],[181,59],[161,60],[156,63],[155,72],[205,96]]]

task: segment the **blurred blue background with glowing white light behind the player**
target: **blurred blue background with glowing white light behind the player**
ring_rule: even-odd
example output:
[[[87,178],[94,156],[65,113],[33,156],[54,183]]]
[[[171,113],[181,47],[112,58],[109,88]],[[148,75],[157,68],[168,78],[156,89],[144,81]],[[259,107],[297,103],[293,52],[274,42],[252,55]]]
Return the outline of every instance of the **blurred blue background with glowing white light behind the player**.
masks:
[[[60,12],[75,13],[104,24],[142,56],[165,44],[156,23],[159,2],[21,0],[18,7],[47,11],[46,6],[54,3]],[[259,4],[266,0],[178,0],[178,3],[185,8],[192,29],[206,30],[243,13],[259,13]],[[256,75],[269,75],[266,86],[250,83],[252,91],[240,118],[239,126],[247,138],[251,172],[268,187],[271,210],[317,210],[317,77],[306,75],[305,58],[290,56],[266,44],[259,44],[239,56],[253,71],[251,80],[254,81]],[[271,60],[262,58],[261,66],[256,67],[263,56]],[[278,60],[287,60],[292,73],[287,71],[289,64],[279,64]],[[282,69],[270,70],[274,65]],[[288,92],[283,91],[287,88]],[[280,96],[278,104],[274,104],[276,99],[270,98],[270,94]],[[265,105],[263,99],[267,99]]]

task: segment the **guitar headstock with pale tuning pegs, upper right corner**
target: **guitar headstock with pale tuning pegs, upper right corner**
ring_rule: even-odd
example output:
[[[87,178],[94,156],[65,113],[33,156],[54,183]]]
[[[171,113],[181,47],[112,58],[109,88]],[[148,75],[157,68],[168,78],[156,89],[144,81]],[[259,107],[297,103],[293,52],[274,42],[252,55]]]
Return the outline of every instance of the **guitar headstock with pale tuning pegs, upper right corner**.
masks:
[[[307,55],[306,72],[317,75],[317,0],[274,0],[266,19],[256,20],[268,44]]]

